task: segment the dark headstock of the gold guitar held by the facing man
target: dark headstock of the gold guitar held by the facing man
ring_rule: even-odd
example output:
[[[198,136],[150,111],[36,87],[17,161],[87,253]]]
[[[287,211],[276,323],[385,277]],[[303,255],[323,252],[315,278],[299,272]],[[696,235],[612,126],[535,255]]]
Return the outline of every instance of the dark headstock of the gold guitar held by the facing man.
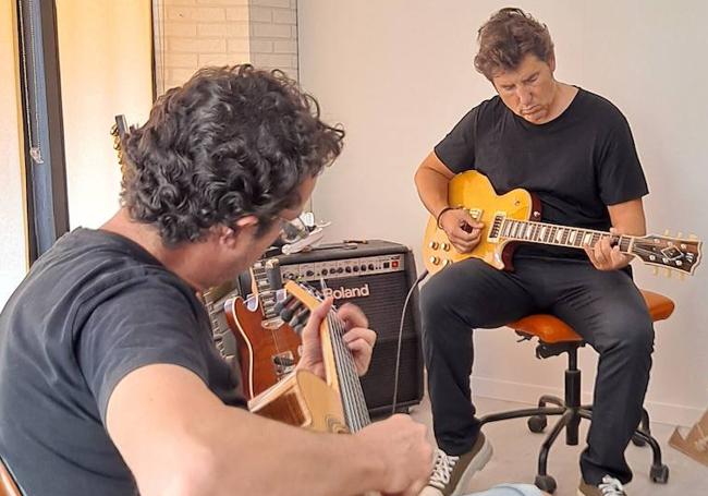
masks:
[[[701,244],[701,241],[692,238],[649,234],[635,238],[631,253],[645,264],[693,275],[700,263]]]

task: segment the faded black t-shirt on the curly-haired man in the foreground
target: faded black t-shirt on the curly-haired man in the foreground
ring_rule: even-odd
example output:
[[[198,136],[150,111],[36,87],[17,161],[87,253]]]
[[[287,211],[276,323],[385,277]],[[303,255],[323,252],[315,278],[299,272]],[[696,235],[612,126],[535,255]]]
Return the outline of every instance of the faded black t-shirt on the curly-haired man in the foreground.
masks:
[[[118,234],[61,238],[0,314],[0,455],[27,496],[137,494],[106,409],[121,378],[154,363],[245,407],[190,286]]]

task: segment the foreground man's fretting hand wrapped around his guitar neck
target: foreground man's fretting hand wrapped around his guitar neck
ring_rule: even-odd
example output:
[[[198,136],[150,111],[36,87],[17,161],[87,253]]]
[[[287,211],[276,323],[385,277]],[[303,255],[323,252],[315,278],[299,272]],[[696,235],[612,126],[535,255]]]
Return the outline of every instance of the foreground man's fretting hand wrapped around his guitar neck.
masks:
[[[307,325],[303,329],[303,352],[297,364],[298,370],[309,371],[322,379],[325,379],[325,364],[319,328],[332,307],[332,298],[326,299],[310,313]],[[358,375],[364,375],[371,363],[376,332],[368,328],[368,319],[356,305],[345,303],[337,312],[337,316],[344,324],[344,342],[352,351],[356,372]]]

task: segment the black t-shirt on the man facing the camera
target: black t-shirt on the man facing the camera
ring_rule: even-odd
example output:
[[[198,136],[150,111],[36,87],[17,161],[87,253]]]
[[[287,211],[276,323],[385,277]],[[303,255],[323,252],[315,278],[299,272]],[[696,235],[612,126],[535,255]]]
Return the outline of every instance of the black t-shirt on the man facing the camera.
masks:
[[[545,222],[607,231],[608,205],[648,193],[630,125],[607,99],[578,88],[557,119],[533,124],[496,96],[473,108],[436,147],[453,172],[475,169],[498,194],[538,196]],[[515,256],[577,257],[581,250],[520,246]]]

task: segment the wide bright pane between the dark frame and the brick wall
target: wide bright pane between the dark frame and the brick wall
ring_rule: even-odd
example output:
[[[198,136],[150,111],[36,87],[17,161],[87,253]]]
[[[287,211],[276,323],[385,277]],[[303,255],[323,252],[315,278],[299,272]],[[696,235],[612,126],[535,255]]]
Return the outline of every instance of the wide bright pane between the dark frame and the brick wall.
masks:
[[[143,123],[152,104],[150,2],[57,0],[71,228],[96,228],[119,206],[114,116]]]

